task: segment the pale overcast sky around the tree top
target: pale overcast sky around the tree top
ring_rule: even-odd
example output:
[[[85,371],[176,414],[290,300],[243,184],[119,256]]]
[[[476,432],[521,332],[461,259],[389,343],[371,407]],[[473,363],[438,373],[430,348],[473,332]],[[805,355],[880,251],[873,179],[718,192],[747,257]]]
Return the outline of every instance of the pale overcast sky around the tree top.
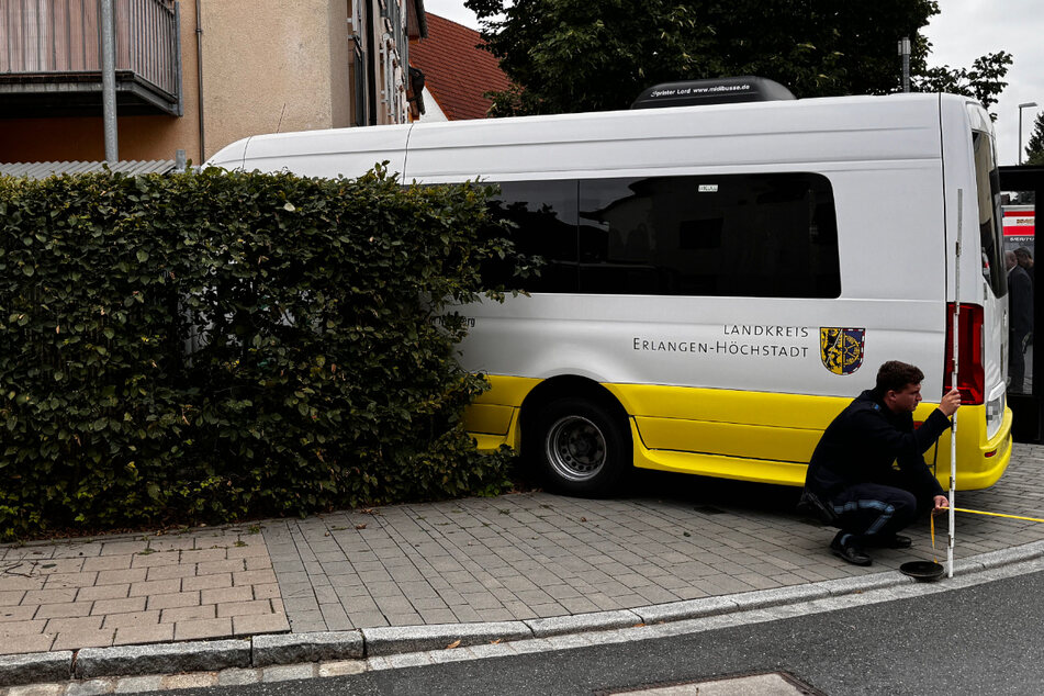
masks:
[[[970,68],[979,56],[998,50],[1014,57],[1008,70],[1008,87],[991,109],[997,114],[998,159],[1001,165],[1014,165],[1019,153],[1019,104],[1041,104],[1022,110],[1023,148],[1033,120],[1044,110],[1044,0],[941,0],[939,4],[942,13],[932,19],[925,31],[933,45],[929,65]],[[424,0],[424,7],[459,24],[479,27],[463,0]],[[897,55],[897,69],[898,60]]]

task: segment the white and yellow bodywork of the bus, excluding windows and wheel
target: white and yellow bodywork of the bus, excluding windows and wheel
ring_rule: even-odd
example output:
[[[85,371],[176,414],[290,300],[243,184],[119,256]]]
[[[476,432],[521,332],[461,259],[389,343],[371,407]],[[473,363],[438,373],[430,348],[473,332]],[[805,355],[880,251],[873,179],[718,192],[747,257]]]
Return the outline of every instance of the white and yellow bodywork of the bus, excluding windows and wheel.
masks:
[[[965,489],[995,482],[1011,453],[1002,299],[984,289],[976,254],[962,256],[959,292],[955,284],[958,215],[968,240],[979,214],[975,113],[952,96],[852,97],[258,136],[240,149],[246,169],[351,177],[389,160],[404,181],[424,183],[823,177],[839,296],[534,292],[458,307],[473,319],[462,366],[493,383],[468,427],[480,447],[518,446],[534,390],[583,377],[627,412],[636,465],[800,485],[822,429],[873,386],[882,362],[923,370],[916,417],[928,416],[946,379],[946,303],[959,294],[985,307],[995,400],[958,412]],[[966,190],[959,211],[956,189]],[[827,358],[839,329],[853,356],[843,372]],[[991,431],[988,409],[1002,414]],[[948,461],[948,436],[939,447]]]

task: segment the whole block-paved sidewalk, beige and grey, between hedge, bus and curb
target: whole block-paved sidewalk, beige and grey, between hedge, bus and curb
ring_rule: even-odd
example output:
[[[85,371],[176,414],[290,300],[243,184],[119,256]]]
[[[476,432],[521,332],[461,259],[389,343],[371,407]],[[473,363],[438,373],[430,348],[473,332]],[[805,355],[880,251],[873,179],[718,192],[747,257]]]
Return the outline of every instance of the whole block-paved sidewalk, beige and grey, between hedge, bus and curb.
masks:
[[[1017,445],[1004,478],[958,493],[957,505],[1044,517],[1042,474],[1044,447]],[[362,635],[384,637],[367,633],[381,627],[438,639],[461,624],[531,628],[614,611],[626,621],[642,607],[642,617],[662,607],[669,618],[671,607],[691,600],[721,598],[727,608],[759,591],[800,596],[816,583],[869,582],[932,558],[928,525],[910,530],[913,549],[875,551],[864,569],[827,552],[832,530],[794,512],[794,490],[642,481],[632,496],[611,501],[524,493],[0,547],[0,662],[60,653],[88,664],[81,649],[288,631],[307,642],[317,632],[362,629],[361,646]],[[943,521],[941,560],[945,535]],[[958,514],[958,572],[962,559],[1042,540],[1042,524]],[[305,654],[300,644],[294,654]]]

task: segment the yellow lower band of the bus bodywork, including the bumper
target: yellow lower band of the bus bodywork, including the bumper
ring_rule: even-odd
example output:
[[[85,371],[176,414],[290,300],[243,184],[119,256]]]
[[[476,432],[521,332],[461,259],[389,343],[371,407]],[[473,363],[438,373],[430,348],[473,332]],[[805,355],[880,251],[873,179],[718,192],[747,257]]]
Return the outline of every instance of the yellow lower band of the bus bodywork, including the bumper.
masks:
[[[493,389],[465,414],[481,449],[518,447],[518,412],[541,380],[491,375]],[[658,384],[603,384],[630,415],[635,465],[741,481],[802,485],[807,462],[850,397],[776,394]],[[922,403],[923,422],[935,408]],[[997,435],[986,439],[986,406],[957,412],[957,489],[996,483],[1011,461],[1011,409]],[[924,458],[950,486],[950,431]]]

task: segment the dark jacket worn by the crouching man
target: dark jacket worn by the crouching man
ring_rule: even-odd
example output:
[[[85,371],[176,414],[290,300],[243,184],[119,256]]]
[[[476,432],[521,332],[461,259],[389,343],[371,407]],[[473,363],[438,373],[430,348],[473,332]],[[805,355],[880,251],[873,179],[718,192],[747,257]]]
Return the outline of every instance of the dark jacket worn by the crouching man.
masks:
[[[812,452],[805,487],[821,501],[857,483],[895,485],[893,462],[916,486],[914,494],[943,495],[924,463],[924,452],[950,427],[938,408],[913,427],[913,414],[893,413],[874,390],[860,394],[838,414]]]

